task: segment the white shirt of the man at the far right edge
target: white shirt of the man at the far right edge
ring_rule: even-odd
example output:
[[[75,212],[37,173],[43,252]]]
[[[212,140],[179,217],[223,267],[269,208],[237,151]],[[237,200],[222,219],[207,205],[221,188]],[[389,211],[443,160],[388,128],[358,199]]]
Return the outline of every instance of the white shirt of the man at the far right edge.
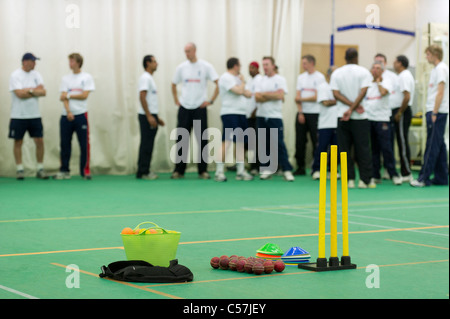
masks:
[[[431,70],[430,81],[428,82],[427,95],[427,112],[434,110],[434,102],[436,101],[438,84],[444,82],[444,97],[442,98],[439,113],[448,113],[448,66],[444,62],[440,62]]]

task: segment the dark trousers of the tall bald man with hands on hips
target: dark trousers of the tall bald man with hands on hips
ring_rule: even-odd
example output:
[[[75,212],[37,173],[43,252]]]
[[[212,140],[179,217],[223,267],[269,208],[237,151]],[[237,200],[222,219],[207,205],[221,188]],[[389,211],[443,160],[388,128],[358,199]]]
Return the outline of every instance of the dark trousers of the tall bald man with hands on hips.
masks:
[[[203,132],[207,128],[207,115],[206,115],[206,108],[196,108],[194,110],[188,110],[184,108],[182,105],[180,105],[180,108],[178,109],[178,124],[177,128],[179,129],[186,129],[188,132],[191,132],[194,120],[200,120],[200,132],[194,132],[195,137],[197,138],[197,141],[199,142],[200,150],[199,150],[199,160],[200,163],[198,163],[198,173],[201,174],[203,172],[206,172],[207,170],[207,163],[203,160],[202,151],[206,151],[206,147],[208,144],[207,140],[203,140]],[[177,143],[181,141],[181,136],[178,135]],[[186,145],[189,147],[189,144]],[[184,172],[186,171],[187,166],[187,150],[183,150],[180,148],[177,152],[177,158],[176,158],[176,164],[175,164],[175,170],[174,172],[178,172],[181,175],[184,175]]]

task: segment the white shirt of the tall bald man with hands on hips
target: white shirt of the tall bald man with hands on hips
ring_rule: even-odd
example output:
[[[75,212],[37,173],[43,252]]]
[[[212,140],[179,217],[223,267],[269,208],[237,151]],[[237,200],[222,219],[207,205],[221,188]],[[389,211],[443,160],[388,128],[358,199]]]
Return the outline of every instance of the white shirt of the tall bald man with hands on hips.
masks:
[[[181,63],[175,70],[172,83],[182,83],[180,104],[189,110],[193,110],[207,101],[208,80],[216,81],[219,79],[214,67],[198,59],[195,63],[189,60]]]

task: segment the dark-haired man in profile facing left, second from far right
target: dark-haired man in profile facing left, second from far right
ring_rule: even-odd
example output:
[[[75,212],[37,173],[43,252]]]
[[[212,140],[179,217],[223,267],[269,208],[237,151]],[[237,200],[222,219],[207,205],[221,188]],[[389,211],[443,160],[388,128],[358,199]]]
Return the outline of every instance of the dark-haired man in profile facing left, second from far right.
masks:
[[[400,156],[400,168],[403,182],[412,180],[411,174],[411,151],[409,148],[409,126],[411,125],[414,102],[415,81],[408,70],[409,60],[404,55],[399,55],[394,62],[395,72],[398,73],[398,90],[401,95],[401,102],[398,108],[392,110],[394,117],[395,136],[397,137],[398,153]]]

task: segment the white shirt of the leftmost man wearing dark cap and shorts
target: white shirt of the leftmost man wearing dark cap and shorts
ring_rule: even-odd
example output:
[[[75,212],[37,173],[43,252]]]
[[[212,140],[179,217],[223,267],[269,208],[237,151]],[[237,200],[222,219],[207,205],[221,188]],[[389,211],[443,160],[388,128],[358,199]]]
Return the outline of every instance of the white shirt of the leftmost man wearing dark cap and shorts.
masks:
[[[11,74],[9,78],[9,91],[12,94],[12,119],[33,119],[41,117],[37,97],[21,99],[14,93],[15,90],[36,88],[41,84],[44,84],[44,80],[38,71],[31,70],[30,72],[25,72],[20,68]]]

